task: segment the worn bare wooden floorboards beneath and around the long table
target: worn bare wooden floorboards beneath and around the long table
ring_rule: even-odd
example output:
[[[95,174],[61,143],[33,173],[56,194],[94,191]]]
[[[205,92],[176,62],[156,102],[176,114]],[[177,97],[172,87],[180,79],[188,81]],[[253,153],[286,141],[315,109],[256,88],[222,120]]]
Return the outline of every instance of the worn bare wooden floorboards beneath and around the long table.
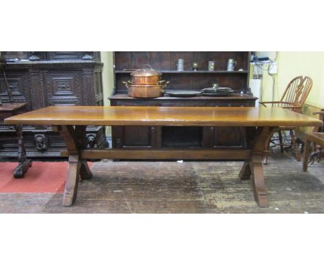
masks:
[[[73,207],[62,194],[0,194],[0,212],[324,213],[324,184],[301,162],[276,155],[264,166],[269,208],[255,203],[242,162],[96,162]],[[322,169],[321,169],[322,166]],[[312,167],[312,166],[311,166]],[[317,171],[323,172],[319,164]],[[310,172],[312,170],[309,170]]]

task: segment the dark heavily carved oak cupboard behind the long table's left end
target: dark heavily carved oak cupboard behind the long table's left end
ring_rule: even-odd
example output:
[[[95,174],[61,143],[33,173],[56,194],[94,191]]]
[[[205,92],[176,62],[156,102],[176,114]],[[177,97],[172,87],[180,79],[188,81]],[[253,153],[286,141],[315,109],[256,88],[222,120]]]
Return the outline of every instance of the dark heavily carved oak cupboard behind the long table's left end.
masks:
[[[49,51],[4,52],[6,76],[15,103],[28,103],[27,110],[50,105],[102,105],[100,52]],[[0,74],[3,103],[9,102]],[[0,143],[0,156],[17,157],[17,137],[12,126],[0,126],[11,140]],[[51,126],[24,126],[24,144],[30,157],[60,156],[65,144]],[[107,145],[102,126],[87,128],[87,145]]]

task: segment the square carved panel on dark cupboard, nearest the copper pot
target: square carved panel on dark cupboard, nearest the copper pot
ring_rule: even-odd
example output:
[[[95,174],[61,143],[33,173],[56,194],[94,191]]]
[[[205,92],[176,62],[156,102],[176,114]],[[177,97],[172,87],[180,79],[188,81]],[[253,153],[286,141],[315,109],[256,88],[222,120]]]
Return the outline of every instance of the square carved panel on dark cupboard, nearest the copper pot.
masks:
[[[47,74],[49,105],[82,105],[78,72],[50,72]]]

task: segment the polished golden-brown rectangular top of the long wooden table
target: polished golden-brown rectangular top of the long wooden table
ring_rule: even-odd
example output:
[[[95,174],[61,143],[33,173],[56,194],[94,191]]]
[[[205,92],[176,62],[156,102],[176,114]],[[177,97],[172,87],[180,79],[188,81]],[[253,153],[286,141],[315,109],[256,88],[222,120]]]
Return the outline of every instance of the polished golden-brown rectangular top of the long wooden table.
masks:
[[[102,126],[322,126],[282,108],[52,106],[19,114],[6,124]]]

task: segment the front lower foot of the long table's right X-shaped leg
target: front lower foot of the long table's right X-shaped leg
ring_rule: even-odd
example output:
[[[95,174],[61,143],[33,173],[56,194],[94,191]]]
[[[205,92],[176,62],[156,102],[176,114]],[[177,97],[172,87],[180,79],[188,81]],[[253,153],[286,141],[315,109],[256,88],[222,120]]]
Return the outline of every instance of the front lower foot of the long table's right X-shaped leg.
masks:
[[[255,201],[258,203],[259,207],[269,207],[267,190],[263,176],[262,157],[260,155],[253,155],[250,166],[252,171]]]

